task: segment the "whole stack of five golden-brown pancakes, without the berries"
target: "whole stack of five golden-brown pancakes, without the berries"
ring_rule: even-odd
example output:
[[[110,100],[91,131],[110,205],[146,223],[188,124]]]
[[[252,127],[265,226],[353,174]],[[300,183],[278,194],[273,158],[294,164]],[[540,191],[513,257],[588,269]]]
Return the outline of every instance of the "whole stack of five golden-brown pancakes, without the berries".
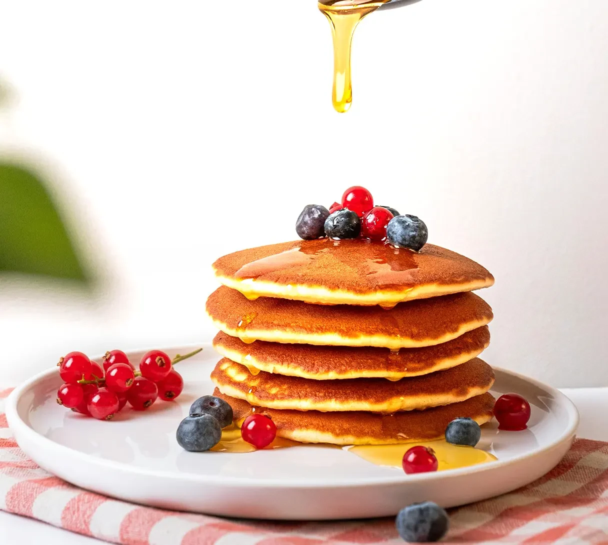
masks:
[[[218,259],[207,300],[225,356],[215,395],[277,435],[366,445],[443,437],[457,417],[492,418],[492,310],[471,293],[485,268],[427,244],[295,241]]]

